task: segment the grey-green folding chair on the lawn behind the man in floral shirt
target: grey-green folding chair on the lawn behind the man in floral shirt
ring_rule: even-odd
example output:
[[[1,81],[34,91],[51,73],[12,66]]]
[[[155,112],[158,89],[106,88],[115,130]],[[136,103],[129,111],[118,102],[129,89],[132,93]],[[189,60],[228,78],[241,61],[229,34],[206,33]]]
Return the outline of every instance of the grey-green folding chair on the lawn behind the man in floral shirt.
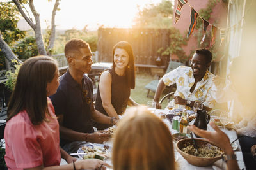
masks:
[[[171,60],[168,64],[168,67],[167,67],[164,74],[169,73],[170,71],[172,71],[173,69],[176,69],[179,66],[184,66],[184,64],[181,63],[181,62],[175,62],[175,61]],[[149,96],[150,91],[156,92],[156,88],[157,88],[157,85],[159,83],[159,80],[160,80],[160,77],[158,78],[158,80],[153,80],[150,83],[148,83],[147,85],[145,85],[144,88],[148,90],[147,97]]]

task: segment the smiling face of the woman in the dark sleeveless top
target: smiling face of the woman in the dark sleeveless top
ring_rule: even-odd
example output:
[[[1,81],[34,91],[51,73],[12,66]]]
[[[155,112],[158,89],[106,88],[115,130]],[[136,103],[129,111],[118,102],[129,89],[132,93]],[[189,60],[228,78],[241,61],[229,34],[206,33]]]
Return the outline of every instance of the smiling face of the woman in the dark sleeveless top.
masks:
[[[116,48],[114,62],[116,69],[125,70],[129,63],[129,54],[122,48]]]

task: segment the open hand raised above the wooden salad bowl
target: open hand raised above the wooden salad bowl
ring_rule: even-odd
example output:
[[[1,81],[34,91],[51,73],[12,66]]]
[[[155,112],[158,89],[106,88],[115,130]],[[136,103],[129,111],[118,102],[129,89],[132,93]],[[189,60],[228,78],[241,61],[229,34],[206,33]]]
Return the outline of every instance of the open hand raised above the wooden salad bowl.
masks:
[[[205,131],[203,129],[199,129],[195,125],[191,125],[188,127],[188,129],[198,136],[201,136],[202,138],[207,139],[207,141],[211,141],[216,146],[219,146],[225,153],[229,154],[230,152],[233,152],[229,138],[227,134],[222,132],[215,124],[214,122],[209,123],[211,127],[214,129],[214,131]]]

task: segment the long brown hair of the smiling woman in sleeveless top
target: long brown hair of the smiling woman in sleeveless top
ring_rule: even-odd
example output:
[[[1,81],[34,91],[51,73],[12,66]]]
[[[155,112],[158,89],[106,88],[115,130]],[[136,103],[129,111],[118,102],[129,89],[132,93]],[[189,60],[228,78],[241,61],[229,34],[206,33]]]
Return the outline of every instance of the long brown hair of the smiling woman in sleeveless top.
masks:
[[[129,86],[131,87],[131,89],[134,89],[134,87],[135,87],[135,66],[134,66],[134,55],[133,55],[133,51],[132,51],[132,46],[127,41],[120,41],[120,42],[116,43],[116,45],[113,47],[113,52],[112,52],[113,68],[115,68],[115,66],[116,66],[116,64],[114,62],[114,55],[115,55],[116,48],[124,49],[129,55],[129,62],[126,67],[125,74],[127,75],[127,80],[129,82]]]

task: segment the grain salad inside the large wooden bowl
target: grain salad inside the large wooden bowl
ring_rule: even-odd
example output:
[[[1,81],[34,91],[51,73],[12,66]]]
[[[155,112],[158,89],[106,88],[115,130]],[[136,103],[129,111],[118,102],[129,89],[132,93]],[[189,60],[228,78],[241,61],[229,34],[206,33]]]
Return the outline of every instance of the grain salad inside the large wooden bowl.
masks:
[[[189,155],[193,155],[196,157],[205,157],[205,158],[214,158],[221,155],[220,148],[216,146],[205,146],[198,145],[198,151],[193,146],[192,143],[185,143],[184,148],[181,149],[183,152],[188,153]]]

